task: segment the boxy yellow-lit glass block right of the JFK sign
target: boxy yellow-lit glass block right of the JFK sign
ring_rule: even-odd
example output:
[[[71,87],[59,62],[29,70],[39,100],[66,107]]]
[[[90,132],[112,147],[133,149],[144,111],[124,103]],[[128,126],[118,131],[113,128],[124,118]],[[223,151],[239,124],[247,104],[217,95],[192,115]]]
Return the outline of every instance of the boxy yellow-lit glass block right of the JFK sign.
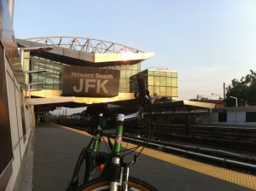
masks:
[[[154,99],[163,97],[177,100],[177,72],[163,69],[148,68],[143,72],[145,87],[149,90],[149,95]],[[131,92],[137,92],[136,75],[131,76]]]

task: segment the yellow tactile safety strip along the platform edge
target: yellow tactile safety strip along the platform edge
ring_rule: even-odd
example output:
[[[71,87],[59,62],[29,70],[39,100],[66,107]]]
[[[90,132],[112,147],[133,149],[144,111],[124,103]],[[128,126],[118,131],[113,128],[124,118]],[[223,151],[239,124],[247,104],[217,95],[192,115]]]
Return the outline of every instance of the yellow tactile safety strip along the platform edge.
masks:
[[[58,125],[58,126],[61,126],[61,125]],[[66,126],[61,126],[61,127],[67,130],[73,130],[75,132],[83,134],[84,136],[90,136],[90,134],[88,134],[87,132],[84,132],[83,130],[75,130],[73,128],[69,128]],[[136,145],[129,143],[128,148],[134,148],[135,146]],[[242,172],[224,169],[222,167],[218,167],[214,165],[207,165],[205,163],[201,163],[192,159],[185,159],[170,153],[163,153],[150,148],[144,148],[143,154],[146,154],[155,159],[164,160],[174,165],[182,166],[183,168],[187,168],[192,171],[197,171],[211,177],[217,177],[224,181],[232,182],[240,186],[256,190],[256,177],[253,175],[248,175]]]

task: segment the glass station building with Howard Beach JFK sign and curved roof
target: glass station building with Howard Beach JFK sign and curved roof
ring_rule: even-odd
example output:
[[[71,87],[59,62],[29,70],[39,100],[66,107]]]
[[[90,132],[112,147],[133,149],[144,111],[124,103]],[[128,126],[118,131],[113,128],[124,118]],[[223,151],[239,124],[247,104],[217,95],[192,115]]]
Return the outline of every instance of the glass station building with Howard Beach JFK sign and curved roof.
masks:
[[[150,96],[177,100],[176,71],[152,67],[142,71],[143,61],[154,53],[93,38],[28,38],[17,43],[22,68],[16,73],[38,113],[60,106],[129,102],[137,91],[134,79],[140,72]]]

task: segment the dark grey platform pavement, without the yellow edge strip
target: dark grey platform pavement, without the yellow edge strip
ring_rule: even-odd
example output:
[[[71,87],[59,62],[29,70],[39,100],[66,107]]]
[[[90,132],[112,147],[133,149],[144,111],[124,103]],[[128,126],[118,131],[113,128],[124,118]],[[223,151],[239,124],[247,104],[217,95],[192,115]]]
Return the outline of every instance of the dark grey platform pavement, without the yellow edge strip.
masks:
[[[68,128],[61,128],[59,125],[41,123],[35,128],[31,141],[33,140],[33,159],[30,157],[30,161],[33,161],[32,190],[65,190],[79,152],[90,141],[90,137]],[[31,155],[32,152],[29,153]],[[154,150],[149,153],[153,153],[153,156],[160,155]],[[150,182],[162,191],[253,190],[198,171],[191,171],[178,164],[173,165],[166,159],[166,161],[155,159],[147,154],[140,156],[137,164],[132,166],[131,175]],[[26,188],[23,187],[22,190],[31,190],[27,183],[25,183]]]

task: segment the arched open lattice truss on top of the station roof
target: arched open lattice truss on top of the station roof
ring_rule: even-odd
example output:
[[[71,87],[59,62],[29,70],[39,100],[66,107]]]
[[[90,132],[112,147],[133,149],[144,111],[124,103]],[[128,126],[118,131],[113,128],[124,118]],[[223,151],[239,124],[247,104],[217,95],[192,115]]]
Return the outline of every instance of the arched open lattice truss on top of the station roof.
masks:
[[[95,54],[111,54],[111,53],[144,53],[140,49],[134,49],[130,46],[104,41],[95,38],[78,38],[78,37],[41,37],[26,38],[27,41],[35,43],[44,43],[54,45],[66,49],[75,49]]]

